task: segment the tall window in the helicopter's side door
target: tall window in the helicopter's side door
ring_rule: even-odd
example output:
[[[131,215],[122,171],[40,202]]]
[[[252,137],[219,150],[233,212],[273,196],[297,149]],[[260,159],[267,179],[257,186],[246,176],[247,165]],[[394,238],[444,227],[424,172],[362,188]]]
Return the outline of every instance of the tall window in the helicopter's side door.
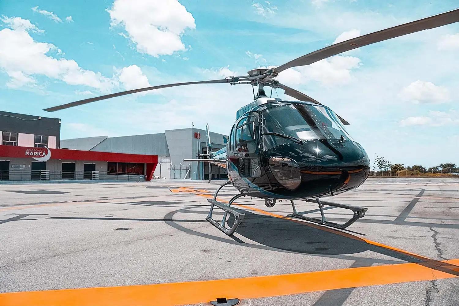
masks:
[[[257,150],[254,116],[242,118],[235,129],[235,150],[237,153],[254,153]]]

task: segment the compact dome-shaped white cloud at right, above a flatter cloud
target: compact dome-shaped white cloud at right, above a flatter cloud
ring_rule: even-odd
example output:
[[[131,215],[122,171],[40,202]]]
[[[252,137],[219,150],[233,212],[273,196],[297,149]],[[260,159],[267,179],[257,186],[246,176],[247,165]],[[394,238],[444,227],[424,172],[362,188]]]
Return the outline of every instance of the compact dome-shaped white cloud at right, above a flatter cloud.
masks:
[[[414,103],[443,103],[449,100],[449,91],[443,86],[417,80],[403,88],[398,97]]]

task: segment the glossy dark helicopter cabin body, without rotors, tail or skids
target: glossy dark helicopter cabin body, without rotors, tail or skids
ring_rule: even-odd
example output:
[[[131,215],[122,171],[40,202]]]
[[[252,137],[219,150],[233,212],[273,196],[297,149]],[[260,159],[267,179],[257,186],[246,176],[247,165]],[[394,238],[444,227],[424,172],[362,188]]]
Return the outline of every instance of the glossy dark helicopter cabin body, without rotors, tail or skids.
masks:
[[[336,195],[361,185],[370,167],[333,111],[299,101],[263,104],[238,118],[225,154],[236,189],[262,198]]]

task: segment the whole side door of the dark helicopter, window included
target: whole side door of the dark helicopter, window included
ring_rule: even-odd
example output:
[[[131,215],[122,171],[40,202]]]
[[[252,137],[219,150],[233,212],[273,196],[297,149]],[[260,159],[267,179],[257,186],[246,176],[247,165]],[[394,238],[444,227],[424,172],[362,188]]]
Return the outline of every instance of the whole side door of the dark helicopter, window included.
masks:
[[[258,150],[257,114],[250,115],[237,123],[234,130],[234,152],[241,178],[257,178],[261,175]]]

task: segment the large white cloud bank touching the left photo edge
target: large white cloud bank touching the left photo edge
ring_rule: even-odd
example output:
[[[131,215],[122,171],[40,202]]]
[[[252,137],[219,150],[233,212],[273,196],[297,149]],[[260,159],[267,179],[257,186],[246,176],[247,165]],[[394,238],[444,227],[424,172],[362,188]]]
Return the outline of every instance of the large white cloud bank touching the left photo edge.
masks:
[[[44,75],[48,78],[62,80],[71,85],[86,85],[101,91],[108,91],[114,86],[110,78],[101,73],[84,70],[78,63],[65,58],[55,58],[52,53],[59,54],[60,50],[53,44],[35,41],[27,30],[36,30],[29,21],[14,18],[11,28],[0,31],[0,68],[5,71],[11,80],[10,87],[33,85],[35,75]]]

